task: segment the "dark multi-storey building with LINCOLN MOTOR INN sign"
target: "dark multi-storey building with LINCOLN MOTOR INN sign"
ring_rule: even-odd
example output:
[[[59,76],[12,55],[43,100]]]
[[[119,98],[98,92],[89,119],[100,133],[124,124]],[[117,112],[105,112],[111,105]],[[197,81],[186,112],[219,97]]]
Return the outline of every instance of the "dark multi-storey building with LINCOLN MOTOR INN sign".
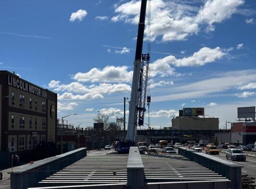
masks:
[[[0,151],[23,154],[56,141],[57,94],[0,71]]]

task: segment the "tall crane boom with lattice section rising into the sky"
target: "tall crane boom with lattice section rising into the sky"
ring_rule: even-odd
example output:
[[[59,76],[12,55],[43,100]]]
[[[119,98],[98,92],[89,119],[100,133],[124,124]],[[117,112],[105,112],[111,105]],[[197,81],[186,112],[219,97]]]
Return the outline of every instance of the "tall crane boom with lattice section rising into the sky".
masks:
[[[137,34],[137,45],[136,45],[135,61],[134,61],[134,68],[133,68],[131,98],[129,103],[128,129],[127,129],[127,139],[131,141],[136,141],[137,125],[141,125],[141,123],[143,125],[143,121],[144,121],[145,95],[146,95],[145,83],[147,83],[149,55],[148,57],[146,57],[146,60],[145,60],[147,62],[146,66],[144,65],[144,59],[141,62],[141,58],[142,58],[142,47],[143,47],[143,38],[144,38],[144,29],[145,29],[146,6],[147,6],[147,0],[141,0],[141,13],[140,13],[140,22],[139,22],[138,34]],[[145,68],[146,70],[144,70]],[[143,116],[141,113],[143,114]],[[142,118],[143,118],[143,121],[141,122],[140,120]]]

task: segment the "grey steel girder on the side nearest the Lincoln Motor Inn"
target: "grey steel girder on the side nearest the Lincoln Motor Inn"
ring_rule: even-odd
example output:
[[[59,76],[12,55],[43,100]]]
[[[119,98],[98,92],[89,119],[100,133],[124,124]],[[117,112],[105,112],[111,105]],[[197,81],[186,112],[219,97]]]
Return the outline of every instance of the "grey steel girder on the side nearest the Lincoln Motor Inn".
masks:
[[[33,164],[16,167],[13,172],[10,172],[11,189],[27,189],[34,187],[38,181],[77,162],[86,155],[87,148],[79,148],[74,151],[36,161]]]

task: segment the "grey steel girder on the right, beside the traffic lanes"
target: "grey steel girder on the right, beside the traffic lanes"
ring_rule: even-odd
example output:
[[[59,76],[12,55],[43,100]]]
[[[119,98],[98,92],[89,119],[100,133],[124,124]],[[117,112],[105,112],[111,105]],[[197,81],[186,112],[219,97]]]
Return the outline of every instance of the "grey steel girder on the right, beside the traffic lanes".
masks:
[[[207,155],[186,149],[184,147],[178,148],[178,153],[191,161],[205,166],[212,171],[225,176],[230,182],[230,189],[242,189],[242,167],[243,165],[234,164],[232,162],[222,160],[217,157]]]

